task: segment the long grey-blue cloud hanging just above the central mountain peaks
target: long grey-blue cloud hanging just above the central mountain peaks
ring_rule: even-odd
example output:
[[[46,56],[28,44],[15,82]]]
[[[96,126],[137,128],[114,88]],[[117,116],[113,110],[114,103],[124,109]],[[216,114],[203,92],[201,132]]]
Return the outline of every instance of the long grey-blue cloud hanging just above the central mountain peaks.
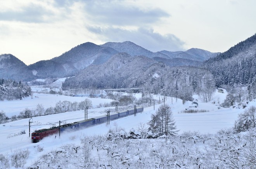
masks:
[[[153,32],[153,29],[140,28],[137,31],[128,31],[123,29],[100,27],[89,27],[89,31],[98,34],[105,41],[123,42],[131,41],[143,48],[156,52],[161,50],[168,51],[184,51],[185,42],[177,38],[173,34],[161,35]]]

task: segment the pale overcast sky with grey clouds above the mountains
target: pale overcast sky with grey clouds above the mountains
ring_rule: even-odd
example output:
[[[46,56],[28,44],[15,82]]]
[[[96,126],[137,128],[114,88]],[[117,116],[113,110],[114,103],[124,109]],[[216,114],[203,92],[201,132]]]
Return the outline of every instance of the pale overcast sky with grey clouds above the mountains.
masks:
[[[0,0],[0,54],[26,65],[85,42],[223,52],[256,33],[256,0]]]

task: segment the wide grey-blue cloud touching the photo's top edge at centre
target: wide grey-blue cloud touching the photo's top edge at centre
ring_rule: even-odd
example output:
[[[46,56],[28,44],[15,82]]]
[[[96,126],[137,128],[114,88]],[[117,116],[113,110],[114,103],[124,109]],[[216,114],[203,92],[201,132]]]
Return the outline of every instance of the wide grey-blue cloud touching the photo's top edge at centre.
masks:
[[[136,6],[125,6],[121,1],[86,1],[85,12],[88,19],[97,24],[109,25],[141,25],[157,22],[161,17],[170,17],[170,14],[161,9],[142,10]]]

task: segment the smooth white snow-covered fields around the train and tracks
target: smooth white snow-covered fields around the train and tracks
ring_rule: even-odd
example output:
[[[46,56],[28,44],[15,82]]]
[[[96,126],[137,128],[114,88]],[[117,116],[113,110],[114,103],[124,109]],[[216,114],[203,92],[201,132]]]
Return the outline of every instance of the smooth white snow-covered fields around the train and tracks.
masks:
[[[182,104],[182,100],[175,99],[171,97],[167,98],[165,104],[171,106],[174,118],[176,120],[177,129],[180,133],[183,131],[199,131],[201,133],[216,133],[216,131],[222,128],[229,128],[234,125],[235,119],[237,119],[237,114],[244,111],[242,108],[220,108],[218,109],[218,100],[223,102],[227,93],[221,94],[217,91],[214,93],[211,102],[203,103],[198,98],[199,106],[193,109],[204,109],[209,112],[205,113],[182,113],[185,108],[188,108],[191,102],[186,102]],[[139,94],[136,97],[140,97]],[[154,96],[155,99],[159,100],[159,96]],[[161,96],[160,96],[161,98]],[[18,101],[2,101],[0,102],[0,111],[3,110],[7,116],[17,115],[20,111],[25,108],[35,108],[36,105],[43,104],[45,108],[50,106],[55,106],[58,101],[83,101],[85,97],[69,97],[69,96],[59,96],[59,95],[49,95],[49,94],[34,94],[33,99],[31,97],[18,100]],[[111,102],[110,99],[100,99],[100,98],[89,98],[92,100],[93,106],[97,106],[100,103]],[[161,98],[162,99],[162,98]],[[215,101],[215,104],[213,102]],[[155,102],[156,103],[156,102]],[[161,103],[163,104],[163,103]],[[256,102],[250,102],[249,106],[256,105]],[[43,147],[44,152],[56,149],[63,144],[76,142],[76,140],[71,140],[73,136],[82,137],[84,135],[105,135],[110,128],[115,128],[119,126],[124,128],[127,132],[131,128],[137,128],[140,123],[147,123],[150,120],[150,115],[156,112],[160,104],[155,104],[154,106],[144,108],[144,112],[138,113],[137,116],[128,116],[125,118],[117,119],[111,121],[110,125],[101,124],[97,126],[92,126],[90,128],[85,128],[83,130],[74,131],[70,133],[62,133],[61,137],[50,136],[44,138],[38,143],[31,143],[31,137],[29,137],[29,118],[21,119],[18,121],[12,121],[10,123],[5,123],[0,125],[0,154],[10,154],[18,149],[28,149],[31,153],[29,155],[28,163],[33,163],[35,159],[39,157],[36,146]],[[107,108],[95,108],[88,111],[88,118],[102,115],[102,112],[106,112]],[[59,121],[63,123],[70,123],[74,121],[79,121],[84,119],[84,111],[67,112],[61,114],[52,114],[48,116],[33,117],[30,121],[31,123],[31,133],[35,130],[42,128],[49,128],[52,124],[59,125]],[[26,131],[26,134],[18,135],[20,131]],[[77,141],[79,142],[79,140]],[[42,152],[43,153],[43,152]],[[29,165],[29,164],[28,164]]]

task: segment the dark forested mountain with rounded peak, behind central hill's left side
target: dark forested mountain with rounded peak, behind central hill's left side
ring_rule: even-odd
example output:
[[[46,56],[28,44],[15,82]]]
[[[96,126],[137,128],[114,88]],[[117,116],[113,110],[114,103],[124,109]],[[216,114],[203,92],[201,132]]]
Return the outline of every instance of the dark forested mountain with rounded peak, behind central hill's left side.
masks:
[[[111,48],[103,48],[94,43],[83,43],[61,56],[51,60],[38,61],[29,65],[35,78],[67,77],[79,72],[88,65],[99,65],[118,53]]]

